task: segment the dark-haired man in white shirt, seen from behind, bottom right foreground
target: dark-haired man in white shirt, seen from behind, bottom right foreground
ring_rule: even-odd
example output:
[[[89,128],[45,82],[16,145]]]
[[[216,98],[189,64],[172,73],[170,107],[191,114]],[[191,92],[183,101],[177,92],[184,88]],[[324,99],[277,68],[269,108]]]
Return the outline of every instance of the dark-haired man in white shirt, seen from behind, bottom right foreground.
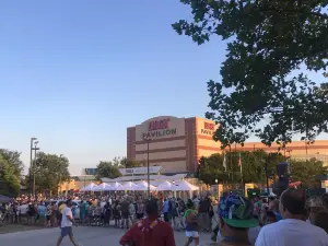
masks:
[[[328,246],[328,234],[306,223],[306,195],[290,188],[280,198],[279,210],[284,220],[261,229],[255,246]]]

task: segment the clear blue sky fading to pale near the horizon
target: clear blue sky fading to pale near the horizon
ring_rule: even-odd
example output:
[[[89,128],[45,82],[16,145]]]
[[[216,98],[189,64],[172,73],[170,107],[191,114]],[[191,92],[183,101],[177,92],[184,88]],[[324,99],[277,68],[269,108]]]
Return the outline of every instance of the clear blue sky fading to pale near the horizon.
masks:
[[[178,36],[171,24],[190,16],[178,0],[2,0],[0,148],[28,166],[37,137],[79,175],[126,156],[127,127],[203,117],[226,46]]]

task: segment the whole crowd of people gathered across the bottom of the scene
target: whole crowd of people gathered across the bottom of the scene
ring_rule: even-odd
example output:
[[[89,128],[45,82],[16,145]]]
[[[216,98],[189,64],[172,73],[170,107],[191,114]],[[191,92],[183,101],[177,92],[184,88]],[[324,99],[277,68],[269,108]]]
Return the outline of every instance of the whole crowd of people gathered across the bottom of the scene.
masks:
[[[185,201],[174,197],[147,199],[138,194],[81,197],[77,208],[72,200],[49,201],[45,207],[47,226],[61,226],[58,245],[67,235],[75,245],[71,226],[79,223],[127,230],[120,239],[124,246],[175,246],[174,230],[185,231],[185,246],[192,242],[200,245],[200,232],[211,232],[213,245],[220,246],[328,246],[328,194],[308,198],[296,188],[289,188],[279,198],[224,194],[218,209],[208,195]]]

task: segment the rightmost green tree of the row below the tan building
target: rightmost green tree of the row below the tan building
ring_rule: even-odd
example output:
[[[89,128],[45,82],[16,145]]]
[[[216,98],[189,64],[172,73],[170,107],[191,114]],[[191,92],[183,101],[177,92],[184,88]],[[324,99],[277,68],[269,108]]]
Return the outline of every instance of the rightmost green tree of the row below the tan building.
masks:
[[[327,167],[324,166],[321,161],[316,159],[311,159],[309,161],[291,160],[289,163],[292,181],[302,181],[304,186],[309,188],[320,185],[317,184],[316,176],[327,175]]]

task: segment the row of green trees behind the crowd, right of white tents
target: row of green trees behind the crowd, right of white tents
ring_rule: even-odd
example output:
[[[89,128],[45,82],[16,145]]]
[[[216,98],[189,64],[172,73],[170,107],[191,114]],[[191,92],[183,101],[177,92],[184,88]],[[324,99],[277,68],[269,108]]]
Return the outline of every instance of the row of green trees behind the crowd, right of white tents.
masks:
[[[223,166],[224,155],[226,168]],[[244,183],[266,184],[266,166],[270,183],[273,183],[274,179],[278,180],[277,165],[286,161],[286,157],[280,153],[267,153],[262,150],[218,153],[200,159],[196,176],[209,185],[214,185],[215,179],[220,184],[241,183],[239,156]],[[291,180],[302,181],[307,187],[316,185],[316,176],[327,175],[327,167],[324,166],[323,162],[315,159],[309,161],[289,160],[289,164]]]

